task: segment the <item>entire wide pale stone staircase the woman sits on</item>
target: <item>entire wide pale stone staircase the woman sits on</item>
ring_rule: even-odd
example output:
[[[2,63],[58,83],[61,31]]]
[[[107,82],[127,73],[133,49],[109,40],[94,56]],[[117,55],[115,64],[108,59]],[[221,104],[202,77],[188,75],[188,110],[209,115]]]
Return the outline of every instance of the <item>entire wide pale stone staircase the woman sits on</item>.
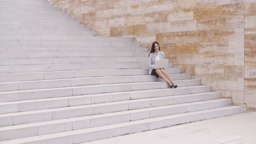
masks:
[[[82,143],[243,112],[200,80],[148,75],[148,48],[43,0],[0,1],[0,143]]]

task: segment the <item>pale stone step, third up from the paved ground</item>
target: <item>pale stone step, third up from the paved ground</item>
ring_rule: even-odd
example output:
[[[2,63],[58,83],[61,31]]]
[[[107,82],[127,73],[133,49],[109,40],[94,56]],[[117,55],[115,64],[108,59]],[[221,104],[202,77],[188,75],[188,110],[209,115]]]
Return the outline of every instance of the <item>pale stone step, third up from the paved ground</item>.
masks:
[[[98,115],[102,113],[112,113],[127,110],[143,109],[155,106],[165,106],[173,104],[191,102],[191,99],[197,101],[211,100],[211,98],[218,97],[219,94],[205,93],[205,94],[190,94],[184,97],[161,97],[161,98],[148,98],[136,100],[116,101],[112,103],[92,104],[92,105],[79,105],[58,107],[54,109],[34,110],[34,111],[21,111],[1,114],[0,119],[3,125],[17,125],[25,123],[52,121],[56,119],[66,119],[82,116]],[[177,101],[177,103],[174,103]],[[188,103],[188,102],[187,102]],[[232,101],[229,99],[224,104],[230,105]]]

